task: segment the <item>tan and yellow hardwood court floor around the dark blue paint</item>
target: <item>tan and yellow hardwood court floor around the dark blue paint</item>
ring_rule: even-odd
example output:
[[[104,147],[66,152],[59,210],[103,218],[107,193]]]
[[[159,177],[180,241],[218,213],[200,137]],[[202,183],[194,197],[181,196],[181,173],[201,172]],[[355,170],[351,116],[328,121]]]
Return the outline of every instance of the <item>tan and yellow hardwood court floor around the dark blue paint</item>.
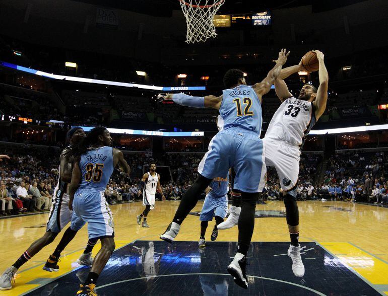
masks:
[[[116,249],[126,248],[135,240],[159,241],[159,235],[170,223],[178,204],[179,201],[157,201],[155,209],[148,217],[149,229],[142,228],[136,223],[136,215],[143,210],[141,202],[112,205]],[[202,202],[199,202],[193,212],[188,215],[177,237],[178,241],[198,241],[200,233],[198,212],[201,211],[201,206]],[[363,281],[380,293],[388,294],[388,208],[340,201],[325,203],[306,201],[298,202],[298,206],[300,212],[299,240],[302,246],[302,242],[316,243]],[[284,211],[283,202],[269,201],[267,204],[256,205],[257,218],[252,241],[289,242]],[[33,240],[44,233],[47,216],[48,214],[38,214],[0,219],[1,272],[13,264]],[[214,222],[209,224],[206,234],[209,242],[213,225]],[[78,267],[74,262],[82,253],[87,242],[86,227],[77,234],[74,241],[63,252],[58,272],[49,273],[42,270],[42,265],[59,242],[60,237],[61,234],[51,245],[22,266],[16,276],[14,288],[2,291],[1,294],[26,293]],[[237,227],[220,231],[217,242],[235,242],[236,240]],[[278,255],[287,252],[287,244],[278,245],[281,246]],[[162,248],[163,245],[158,244],[157,246]],[[190,246],[195,246],[195,244],[192,243]],[[99,247],[99,245],[95,247],[94,254],[97,253]],[[125,248],[123,250],[126,250]],[[289,259],[285,257],[287,256],[280,258],[287,260],[285,262],[291,265]],[[329,260],[327,258],[328,256],[322,255],[322,260]],[[304,259],[305,261],[308,259]],[[291,269],[290,266],[287,268]]]

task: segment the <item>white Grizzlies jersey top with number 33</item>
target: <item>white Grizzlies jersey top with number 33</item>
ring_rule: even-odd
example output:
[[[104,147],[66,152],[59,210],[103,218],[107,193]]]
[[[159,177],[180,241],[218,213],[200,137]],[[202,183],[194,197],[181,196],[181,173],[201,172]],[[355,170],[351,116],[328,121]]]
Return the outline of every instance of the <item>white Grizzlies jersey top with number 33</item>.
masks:
[[[314,105],[291,97],[276,110],[265,137],[302,147],[315,122]]]

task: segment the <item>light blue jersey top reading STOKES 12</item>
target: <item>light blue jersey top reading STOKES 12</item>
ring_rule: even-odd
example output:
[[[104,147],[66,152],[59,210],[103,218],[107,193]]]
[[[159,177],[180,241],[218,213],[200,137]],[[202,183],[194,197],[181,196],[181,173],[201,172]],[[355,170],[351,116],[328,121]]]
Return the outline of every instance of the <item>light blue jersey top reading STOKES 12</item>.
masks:
[[[219,130],[229,127],[251,130],[260,135],[262,130],[262,105],[250,86],[239,85],[222,91]]]

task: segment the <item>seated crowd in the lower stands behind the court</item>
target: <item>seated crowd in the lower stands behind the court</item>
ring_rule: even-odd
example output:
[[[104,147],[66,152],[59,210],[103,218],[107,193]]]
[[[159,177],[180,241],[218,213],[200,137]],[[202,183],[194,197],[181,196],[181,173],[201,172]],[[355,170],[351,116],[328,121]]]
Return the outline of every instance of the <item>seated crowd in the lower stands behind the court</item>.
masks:
[[[0,215],[20,214],[49,210],[51,197],[58,180],[58,150],[37,150],[24,147],[5,150],[11,159],[0,163]],[[198,177],[198,165],[202,154],[165,153],[154,159],[149,153],[125,154],[131,175],[115,169],[106,187],[105,196],[109,203],[142,200],[139,192],[140,180],[150,162],[169,166],[171,177],[161,182],[167,199],[179,200]],[[316,169],[320,155],[302,154],[300,162],[297,198],[341,199],[388,203],[388,170],[384,152],[353,152],[337,154],[327,162],[325,178],[316,183]],[[268,168],[267,192],[264,199],[282,198],[280,180],[273,168]],[[204,197],[204,196],[203,196]],[[156,199],[161,199],[157,192]]]

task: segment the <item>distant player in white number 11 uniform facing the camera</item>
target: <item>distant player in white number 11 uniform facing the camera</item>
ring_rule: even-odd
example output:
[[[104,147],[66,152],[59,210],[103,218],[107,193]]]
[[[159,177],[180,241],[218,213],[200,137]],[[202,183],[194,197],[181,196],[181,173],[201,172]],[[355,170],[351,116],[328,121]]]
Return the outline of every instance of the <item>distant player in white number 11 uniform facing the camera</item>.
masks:
[[[146,208],[140,215],[136,216],[136,218],[139,225],[143,218],[142,227],[150,227],[147,223],[147,215],[149,211],[155,207],[156,190],[162,194],[162,200],[166,200],[162,188],[160,187],[160,175],[156,173],[155,163],[150,164],[150,171],[143,175],[140,186],[141,189],[139,190],[139,194],[143,194],[143,205],[146,206]]]

